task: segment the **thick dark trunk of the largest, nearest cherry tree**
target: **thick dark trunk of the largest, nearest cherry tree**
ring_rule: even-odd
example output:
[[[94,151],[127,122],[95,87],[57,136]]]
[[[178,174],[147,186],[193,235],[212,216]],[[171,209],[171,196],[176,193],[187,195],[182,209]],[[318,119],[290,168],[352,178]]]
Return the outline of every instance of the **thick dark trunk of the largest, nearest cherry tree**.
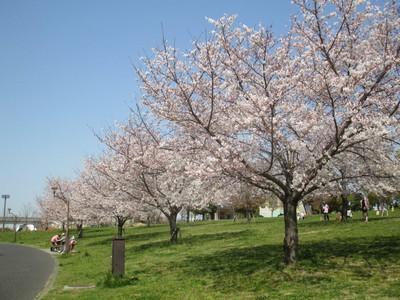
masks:
[[[284,219],[285,219],[285,239],[283,249],[285,254],[285,264],[291,265],[299,260],[299,237],[297,230],[297,203],[291,199],[283,201]]]

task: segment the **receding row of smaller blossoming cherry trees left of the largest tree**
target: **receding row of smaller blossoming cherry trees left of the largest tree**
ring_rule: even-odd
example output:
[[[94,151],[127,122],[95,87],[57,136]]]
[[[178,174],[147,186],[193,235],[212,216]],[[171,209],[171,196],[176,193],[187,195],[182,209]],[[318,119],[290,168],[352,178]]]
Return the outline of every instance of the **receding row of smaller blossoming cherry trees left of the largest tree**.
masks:
[[[38,198],[43,216],[66,223],[68,199],[75,221],[100,221],[112,216],[122,236],[125,222],[133,217],[150,220],[161,212],[169,221],[171,242],[177,241],[177,216],[222,204],[226,182],[221,176],[199,177],[188,172],[188,160],[178,149],[180,141],[165,133],[160,122],[139,109],[127,124],[97,135],[107,146],[104,155],[85,160],[76,180],[49,179]],[[52,193],[56,187],[57,197]]]

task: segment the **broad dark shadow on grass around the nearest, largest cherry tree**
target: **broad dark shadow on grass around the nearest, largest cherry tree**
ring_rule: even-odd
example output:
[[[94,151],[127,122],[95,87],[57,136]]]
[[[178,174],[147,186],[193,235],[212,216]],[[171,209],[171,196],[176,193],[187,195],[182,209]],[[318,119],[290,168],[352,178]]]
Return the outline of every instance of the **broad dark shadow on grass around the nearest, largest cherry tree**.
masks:
[[[282,245],[230,248],[212,254],[192,255],[178,263],[178,268],[193,268],[198,277],[210,280],[216,289],[257,290],[279,286],[282,282],[307,283],[318,286],[335,278],[332,269],[346,268],[350,276],[365,278],[385,266],[400,262],[398,237],[371,237],[319,240],[300,245],[300,262],[286,267]],[[351,264],[349,264],[351,261]],[[327,276],[327,274],[333,276]],[[210,284],[210,283],[208,283]]]

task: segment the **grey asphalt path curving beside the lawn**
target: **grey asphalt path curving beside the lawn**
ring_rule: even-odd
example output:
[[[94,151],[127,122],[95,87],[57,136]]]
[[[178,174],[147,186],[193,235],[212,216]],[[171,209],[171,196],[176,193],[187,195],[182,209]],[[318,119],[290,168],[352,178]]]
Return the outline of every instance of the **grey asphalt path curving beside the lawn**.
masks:
[[[56,266],[50,252],[0,243],[0,299],[36,299],[55,276]]]

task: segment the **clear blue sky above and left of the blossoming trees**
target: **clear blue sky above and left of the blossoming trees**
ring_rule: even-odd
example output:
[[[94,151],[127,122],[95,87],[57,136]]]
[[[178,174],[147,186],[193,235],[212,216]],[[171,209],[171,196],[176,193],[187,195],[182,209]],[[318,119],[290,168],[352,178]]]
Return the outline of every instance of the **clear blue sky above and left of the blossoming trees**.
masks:
[[[162,40],[181,49],[209,30],[205,17],[238,14],[286,31],[290,0],[0,1],[0,194],[19,214],[47,177],[74,178],[93,136],[123,121],[137,95],[131,61]],[[0,202],[3,214],[3,199]]]

